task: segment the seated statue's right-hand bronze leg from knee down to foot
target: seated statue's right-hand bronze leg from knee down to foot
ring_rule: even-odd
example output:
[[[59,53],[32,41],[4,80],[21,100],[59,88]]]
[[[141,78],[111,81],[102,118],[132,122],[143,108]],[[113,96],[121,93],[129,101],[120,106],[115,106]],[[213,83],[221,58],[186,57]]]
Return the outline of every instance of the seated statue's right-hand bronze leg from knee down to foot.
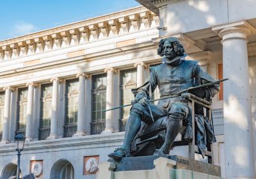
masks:
[[[166,123],[166,137],[163,146],[156,150],[154,155],[164,155],[170,152],[170,148],[182,128],[182,120],[188,115],[188,105],[182,103],[173,104],[168,111]]]

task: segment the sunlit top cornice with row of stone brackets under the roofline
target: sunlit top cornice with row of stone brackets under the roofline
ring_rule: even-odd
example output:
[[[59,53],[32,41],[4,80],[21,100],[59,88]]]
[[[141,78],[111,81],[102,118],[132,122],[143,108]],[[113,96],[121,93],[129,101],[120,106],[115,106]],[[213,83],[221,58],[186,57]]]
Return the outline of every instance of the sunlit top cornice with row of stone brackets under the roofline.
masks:
[[[146,8],[138,7],[130,11],[125,10],[97,17],[95,20],[88,19],[2,41],[0,42],[0,60],[19,58],[159,26],[159,17]],[[100,22],[100,20],[102,21]]]

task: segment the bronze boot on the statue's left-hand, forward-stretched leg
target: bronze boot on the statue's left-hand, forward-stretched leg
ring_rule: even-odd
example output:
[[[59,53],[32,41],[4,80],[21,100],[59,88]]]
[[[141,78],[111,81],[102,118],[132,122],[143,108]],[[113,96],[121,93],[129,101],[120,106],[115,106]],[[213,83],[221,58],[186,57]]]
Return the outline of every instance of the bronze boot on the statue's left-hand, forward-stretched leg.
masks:
[[[125,127],[125,136],[124,136],[124,143],[120,148],[116,148],[113,153],[109,153],[108,157],[120,160],[122,157],[129,157],[130,155],[130,146],[132,140],[140,130],[141,119],[137,113],[131,112],[127,124]]]

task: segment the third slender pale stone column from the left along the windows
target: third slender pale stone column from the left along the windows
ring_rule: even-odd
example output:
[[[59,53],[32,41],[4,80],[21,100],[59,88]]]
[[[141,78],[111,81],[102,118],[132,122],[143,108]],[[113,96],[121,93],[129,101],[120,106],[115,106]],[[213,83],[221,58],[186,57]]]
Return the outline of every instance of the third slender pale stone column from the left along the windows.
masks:
[[[58,89],[60,79],[52,78],[52,111],[51,111],[51,132],[47,139],[56,139],[58,137]]]

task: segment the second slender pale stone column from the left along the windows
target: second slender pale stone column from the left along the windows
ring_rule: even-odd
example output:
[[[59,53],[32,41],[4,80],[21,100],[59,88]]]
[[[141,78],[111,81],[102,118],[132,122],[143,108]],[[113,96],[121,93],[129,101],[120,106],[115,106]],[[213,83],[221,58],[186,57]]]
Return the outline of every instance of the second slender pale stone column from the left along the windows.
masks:
[[[26,141],[33,139],[33,96],[35,83],[28,82],[28,104],[26,111]]]

